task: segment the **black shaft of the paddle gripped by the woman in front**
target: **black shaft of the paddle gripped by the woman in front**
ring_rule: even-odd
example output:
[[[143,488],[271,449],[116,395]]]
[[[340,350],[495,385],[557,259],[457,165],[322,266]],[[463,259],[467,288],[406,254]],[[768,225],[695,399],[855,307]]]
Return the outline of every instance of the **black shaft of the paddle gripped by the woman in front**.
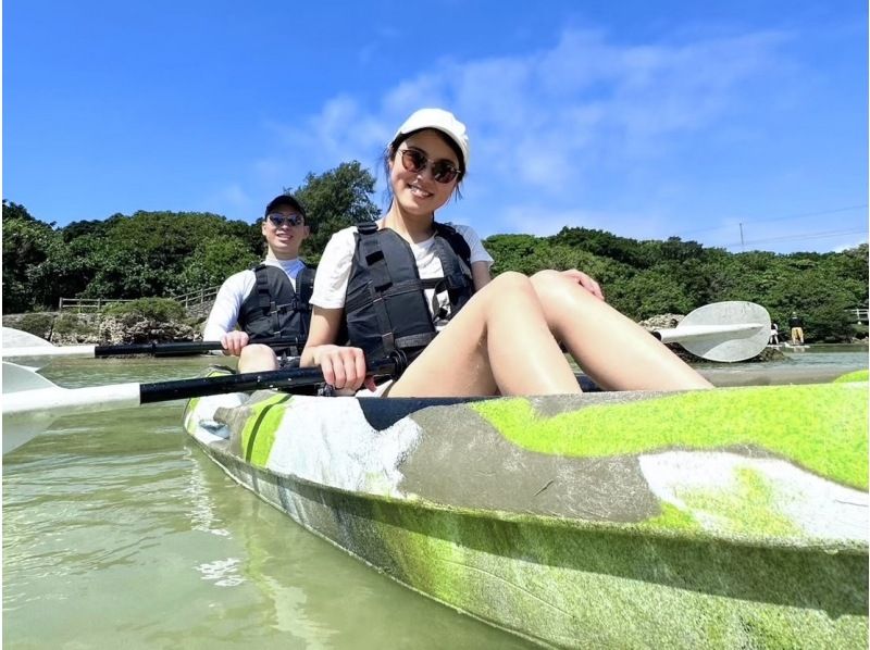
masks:
[[[369,365],[370,375],[394,375],[397,370],[395,360],[382,360]],[[302,386],[323,384],[323,372],[319,367],[288,368],[266,371],[262,373],[243,373],[220,377],[201,377],[197,379],[177,379],[174,382],[156,382],[139,386],[139,403],[165,402],[170,400],[190,399],[207,395],[227,392],[246,392],[279,388],[293,390]]]

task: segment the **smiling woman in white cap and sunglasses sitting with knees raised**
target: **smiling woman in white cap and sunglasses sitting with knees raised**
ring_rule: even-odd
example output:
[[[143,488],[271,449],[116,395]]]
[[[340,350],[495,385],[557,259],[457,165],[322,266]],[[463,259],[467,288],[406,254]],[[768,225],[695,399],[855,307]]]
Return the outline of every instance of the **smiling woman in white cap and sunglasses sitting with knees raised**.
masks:
[[[390,397],[579,392],[561,342],[606,388],[710,386],[579,271],[492,279],[477,235],[435,221],[469,151],[465,126],[447,111],[422,109],[399,127],[385,152],[387,213],[336,233],[323,253],[302,366],[321,366],[339,389],[375,390],[366,357],[407,358]]]

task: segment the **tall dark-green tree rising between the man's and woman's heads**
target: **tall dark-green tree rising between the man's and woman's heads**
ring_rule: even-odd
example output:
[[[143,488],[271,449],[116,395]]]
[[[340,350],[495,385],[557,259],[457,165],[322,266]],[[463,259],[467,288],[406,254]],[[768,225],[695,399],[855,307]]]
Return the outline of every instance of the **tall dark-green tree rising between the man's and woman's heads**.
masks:
[[[375,178],[359,162],[341,163],[319,176],[309,174],[290,191],[304,207],[311,236],[302,245],[302,257],[316,262],[333,233],[353,224],[375,221],[380,210],[370,196]]]

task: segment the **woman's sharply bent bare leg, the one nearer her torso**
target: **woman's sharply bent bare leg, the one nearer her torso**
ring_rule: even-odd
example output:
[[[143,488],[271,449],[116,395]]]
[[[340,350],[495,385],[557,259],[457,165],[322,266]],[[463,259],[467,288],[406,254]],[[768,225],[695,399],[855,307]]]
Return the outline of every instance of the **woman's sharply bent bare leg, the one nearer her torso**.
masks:
[[[531,280],[502,273],[414,360],[389,397],[580,392]]]

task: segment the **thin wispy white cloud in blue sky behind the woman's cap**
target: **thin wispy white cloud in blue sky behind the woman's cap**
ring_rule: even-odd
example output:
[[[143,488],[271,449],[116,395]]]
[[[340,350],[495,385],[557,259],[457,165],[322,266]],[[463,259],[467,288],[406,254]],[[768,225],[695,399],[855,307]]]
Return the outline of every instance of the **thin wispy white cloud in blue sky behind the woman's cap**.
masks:
[[[667,236],[652,232],[656,218],[635,214],[639,208],[613,204],[608,214],[580,207],[605,183],[619,197],[620,183],[627,187],[669,160],[686,136],[712,132],[743,110],[744,84],[779,68],[788,38],[695,34],[623,45],[602,32],[566,30],[554,47],[522,55],[440,60],[396,83],[374,109],[337,96],[303,124],[272,128],[288,152],[304,157],[306,170],[351,159],[373,165],[411,111],[442,105],[469,125],[467,195],[487,205],[486,229],[511,227],[515,205],[532,197],[556,215],[542,223],[591,225],[592,218],[600,223],[591,227]]]

